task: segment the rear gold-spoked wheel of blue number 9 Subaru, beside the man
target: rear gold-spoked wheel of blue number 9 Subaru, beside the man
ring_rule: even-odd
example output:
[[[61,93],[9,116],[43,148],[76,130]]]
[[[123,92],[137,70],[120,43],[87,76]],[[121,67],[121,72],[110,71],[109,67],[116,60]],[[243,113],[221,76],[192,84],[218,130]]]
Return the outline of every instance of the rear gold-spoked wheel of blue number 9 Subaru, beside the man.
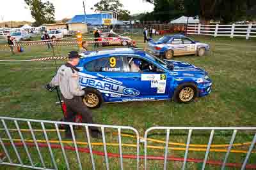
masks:
[[[83,89],[85,94],[83,96],[83,103],[90,109],[99,108],[103,103],[101,93],[93,88],[87,87]]]

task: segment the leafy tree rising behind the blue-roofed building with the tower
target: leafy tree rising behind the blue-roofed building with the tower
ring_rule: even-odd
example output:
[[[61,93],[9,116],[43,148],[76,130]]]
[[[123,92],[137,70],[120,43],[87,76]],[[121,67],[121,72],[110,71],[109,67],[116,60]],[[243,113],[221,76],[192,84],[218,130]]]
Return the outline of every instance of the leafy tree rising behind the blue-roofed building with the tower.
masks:
[[[101,0],[99,3],[94,5],[92,10],[94,11],[116,11],[120,20],[129,20],[130,11],[124,10],[124,5],[120,3],[120,0]]]

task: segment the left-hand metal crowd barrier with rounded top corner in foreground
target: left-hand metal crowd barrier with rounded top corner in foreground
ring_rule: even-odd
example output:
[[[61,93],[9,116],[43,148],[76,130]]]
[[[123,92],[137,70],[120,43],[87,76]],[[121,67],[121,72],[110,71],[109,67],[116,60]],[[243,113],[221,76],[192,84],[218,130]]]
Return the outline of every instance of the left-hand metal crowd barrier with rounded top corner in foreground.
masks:
[[[61,145],[61,151],[63,153],[63,157],[65,159],[65,166],[67,167],[67,169],[70,169],[70,164],[68,164],[68,155],[65,151],[65,147],[62,143],[62,138],[61,138],[61,134],[60,134],[60,129],[59,129],[59,125],[69,125],[71,132],[72,132],[72,141],[75,147],[75,152],[76,152],[76,157],[77,157],[77,163],[79,164],[79,169],[83,169],[82,164],[81,164],[81,159],[79,156],[79,150],[77,147],[77,141],[76,141],[76,136],[74,133],[74,127],[75,126],[79,126],[79,127],[84,127],[85,131],[86,131],[86,138],[88,139],[88,147],[90,150],[90,159],[91,159],[91,163],[92,163],[92,168],[95,168],[95,160],[93,158],[93,150],[92,150],[92,143],[91,143],[91,139],[90,139],[90,132],[89,132],[89,127],[98,127],[101,130],[101,134],[102,134],[102,141],[103,141],[103,147],[104,147],[104,158],[105,158],[105,164],[106,164],[106,169],[109,169],[109,160],[108,160],[108,152],[107,152],[107,145],[106,145],[106,129],[115,129],[118,132],[118,148],[119,148],[119,154],[120,154],[120,169],[123,169],[123,154],[122,154],[122,136],[121,136],[121,132],[123,130],[129,130],[129,131],[133,131],[135,136],[136,136],[136,167],[137,169],[139,169],[139,133],[136,129],[132,128],[132,127],[127,127],[127,126],[118,126],[118,125],[97,125],[97,124],[80,124],[80,123],[70,123],[70,122],[55,122],[55,121],[46,121],[46,120],[31,120],[31,119],[24,119],[24,118],[7,118],[7,117],[0,117],[1,120],[1,124],[3,124],[4,127],[4,131],[6,132],[8,138],[10,139],[10,143],[12,145],[12,148],[15,152],[15,155],[17,156],[17,159],[19,161],[18,163],[13,162],[13,159],[10,156],[10,153],[8,152],[8,149],[6,148],[6,145],[4,145],[3,142],[3,137],[0,134],[0,144],[3,148],[4,154],[6,155],[6,158],[8,160],[8,162],[6,162],[5,159],[1,159],[0,158],[0,165],[9,165],[9,166],[19,166],[19,167],[27,167],[27,168],[31,168],[31,169],[51,169],[49,167],[45,166],[45,161],[43,159],[42,153],[40,152],[40,147],[38,145],[38,141],[36,140],[36,136],[35,136],[35,130],[33,129],[32,125],[33,123],[38,123],[40,124],[40,126],[42,127],[42,131],[44,132],[44,137],[45,137],[45,141],[47,143],[49,152],[51,154],[51,160],[52,160],[52,164],[54,166],[54,169],[58,169],[58,166],[56,164],[56,160],[54,158],[54,153],[52,152],[52,147],[49,141],[49,134],[47,134],[47,129],[45,128],[45,124],[52,124],[54,125],[54,127],[56,128],[56,132],[58,134],[58,140],[60,141],[60,145]],[[15,124],[15,129],[17,129],[17,131],[19,132],[19,136],[22,142],[22,145],[24,146],[24,149],[26,151],[26,155],[28,156],[29,159],[29,165],[26,165],[24,163],[24,161],[22,161],[22,158],[20,157],[20,153],[17,150],[17,146],[15,146],[15,141],[12,138],[12,135],[10,133],[10,127],[8,127],[8,125],[6,124],[6,121],[8,121],[8,124]],[[38,167],[36,166],[35,162],[33,162],[33,160],[31,159],[31,154],[29,153],[28,150],[28,144],[26,143],[26,139],[24,138],[24,135],[22,134],[22,130],[20,129],[20,123],[26,123],[29,127],[29,132],[31,133],[31,136],[33,138],[33,143],[36,146],[36,150],[37,153],[40,157],[40,163],[42,164],[42,167]]]

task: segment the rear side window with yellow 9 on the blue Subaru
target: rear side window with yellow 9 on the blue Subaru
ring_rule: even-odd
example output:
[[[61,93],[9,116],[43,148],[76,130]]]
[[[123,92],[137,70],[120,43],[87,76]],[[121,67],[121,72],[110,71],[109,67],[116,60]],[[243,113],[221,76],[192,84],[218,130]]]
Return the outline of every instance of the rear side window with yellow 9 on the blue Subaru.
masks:
[[[91,72],[124,72],[123,57],[104,57],[96,59],[84,65]]]

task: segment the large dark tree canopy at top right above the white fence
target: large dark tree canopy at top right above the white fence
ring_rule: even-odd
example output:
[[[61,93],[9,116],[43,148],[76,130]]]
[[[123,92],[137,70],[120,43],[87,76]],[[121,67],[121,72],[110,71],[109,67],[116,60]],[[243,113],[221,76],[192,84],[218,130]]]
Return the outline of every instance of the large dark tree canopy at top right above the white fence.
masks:
[[[145,0],[154,3],[154,11],[159,11],[156,5],[169,2],[169,6],[177,6],[170,10],[178,10],[180,13],[193,17],[199,15],[200,23],[208,25],[211,20],[220,20],[223,23],[234,22],[243,18],[253,18],[246,15],[250,9],[255,8],[255,0]],[[161,8],[163,10],[163,8]],[[175,13],[173,11],[173,13]],[[179,13],[179,12],[176,12]],[[178,16],[177,16],[178,17]],[[172,16],[170,16],[172,18]]]

